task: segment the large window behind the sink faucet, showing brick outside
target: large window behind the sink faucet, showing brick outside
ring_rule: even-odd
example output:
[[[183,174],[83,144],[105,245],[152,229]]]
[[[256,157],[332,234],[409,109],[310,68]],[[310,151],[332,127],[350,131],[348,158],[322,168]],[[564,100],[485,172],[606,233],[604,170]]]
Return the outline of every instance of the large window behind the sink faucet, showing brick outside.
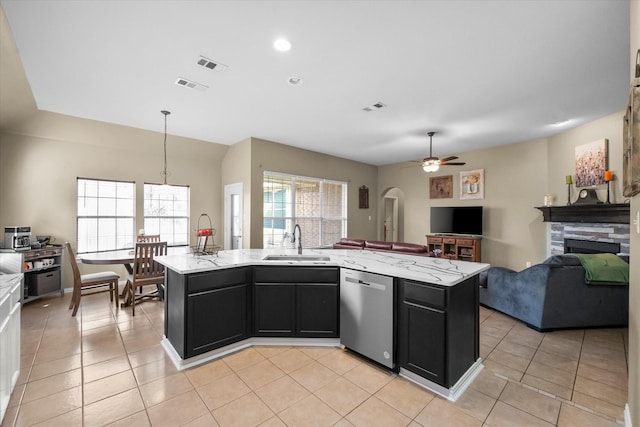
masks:
[[[263,247],[286,246],[293,227],[303,247],[326,247],[347,235],[347,184],[265,172]]]

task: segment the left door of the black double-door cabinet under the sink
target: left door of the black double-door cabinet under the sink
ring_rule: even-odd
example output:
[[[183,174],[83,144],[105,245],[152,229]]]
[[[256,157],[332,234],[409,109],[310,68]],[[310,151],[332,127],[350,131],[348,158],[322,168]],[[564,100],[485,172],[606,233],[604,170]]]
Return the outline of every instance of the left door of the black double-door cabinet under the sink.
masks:
[[[254,292],[254,334],[291,337],[295,335],[295,285],[256,283]]]

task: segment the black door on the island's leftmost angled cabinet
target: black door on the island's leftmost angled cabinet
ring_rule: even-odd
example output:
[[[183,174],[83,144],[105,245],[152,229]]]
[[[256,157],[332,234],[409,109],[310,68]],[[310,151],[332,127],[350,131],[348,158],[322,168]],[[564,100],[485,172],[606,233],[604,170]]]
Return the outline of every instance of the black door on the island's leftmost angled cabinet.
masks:
[[[187,355],[195,356],[249,336],[246,283],[187,296]]]

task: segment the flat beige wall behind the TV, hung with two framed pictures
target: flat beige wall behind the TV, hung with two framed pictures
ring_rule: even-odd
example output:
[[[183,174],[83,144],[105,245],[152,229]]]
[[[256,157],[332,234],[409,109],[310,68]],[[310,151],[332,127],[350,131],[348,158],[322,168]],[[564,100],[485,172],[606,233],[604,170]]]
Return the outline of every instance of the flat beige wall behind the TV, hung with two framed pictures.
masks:
[[[378,188],[399,188],[404,193],[404,240],[425,244],[430,232],[431,206],[484,206],[482,260],[512,268],[545,255],[545,225],[540,211],[547,192],[546,140],[512,144],[459,154],[461,167],[442,167],[433,175],[419,166],[382,166]],[[526,161],[523,161],[526,159]],[[460,171],[484,169],[484,200],[460,200]],[[429,199],[429,178],[453,175],[453,197]]]

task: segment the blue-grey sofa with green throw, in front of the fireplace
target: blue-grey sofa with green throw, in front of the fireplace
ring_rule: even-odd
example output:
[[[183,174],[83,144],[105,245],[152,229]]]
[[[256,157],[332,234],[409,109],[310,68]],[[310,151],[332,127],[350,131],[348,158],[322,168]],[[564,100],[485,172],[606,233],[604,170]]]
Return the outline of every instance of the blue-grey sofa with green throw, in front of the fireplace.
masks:
[[[480,303],[539,331],[626,326],[629,286],[588,285],[578,258],[553,255],[520,272],[491,267],[480,277]]]

